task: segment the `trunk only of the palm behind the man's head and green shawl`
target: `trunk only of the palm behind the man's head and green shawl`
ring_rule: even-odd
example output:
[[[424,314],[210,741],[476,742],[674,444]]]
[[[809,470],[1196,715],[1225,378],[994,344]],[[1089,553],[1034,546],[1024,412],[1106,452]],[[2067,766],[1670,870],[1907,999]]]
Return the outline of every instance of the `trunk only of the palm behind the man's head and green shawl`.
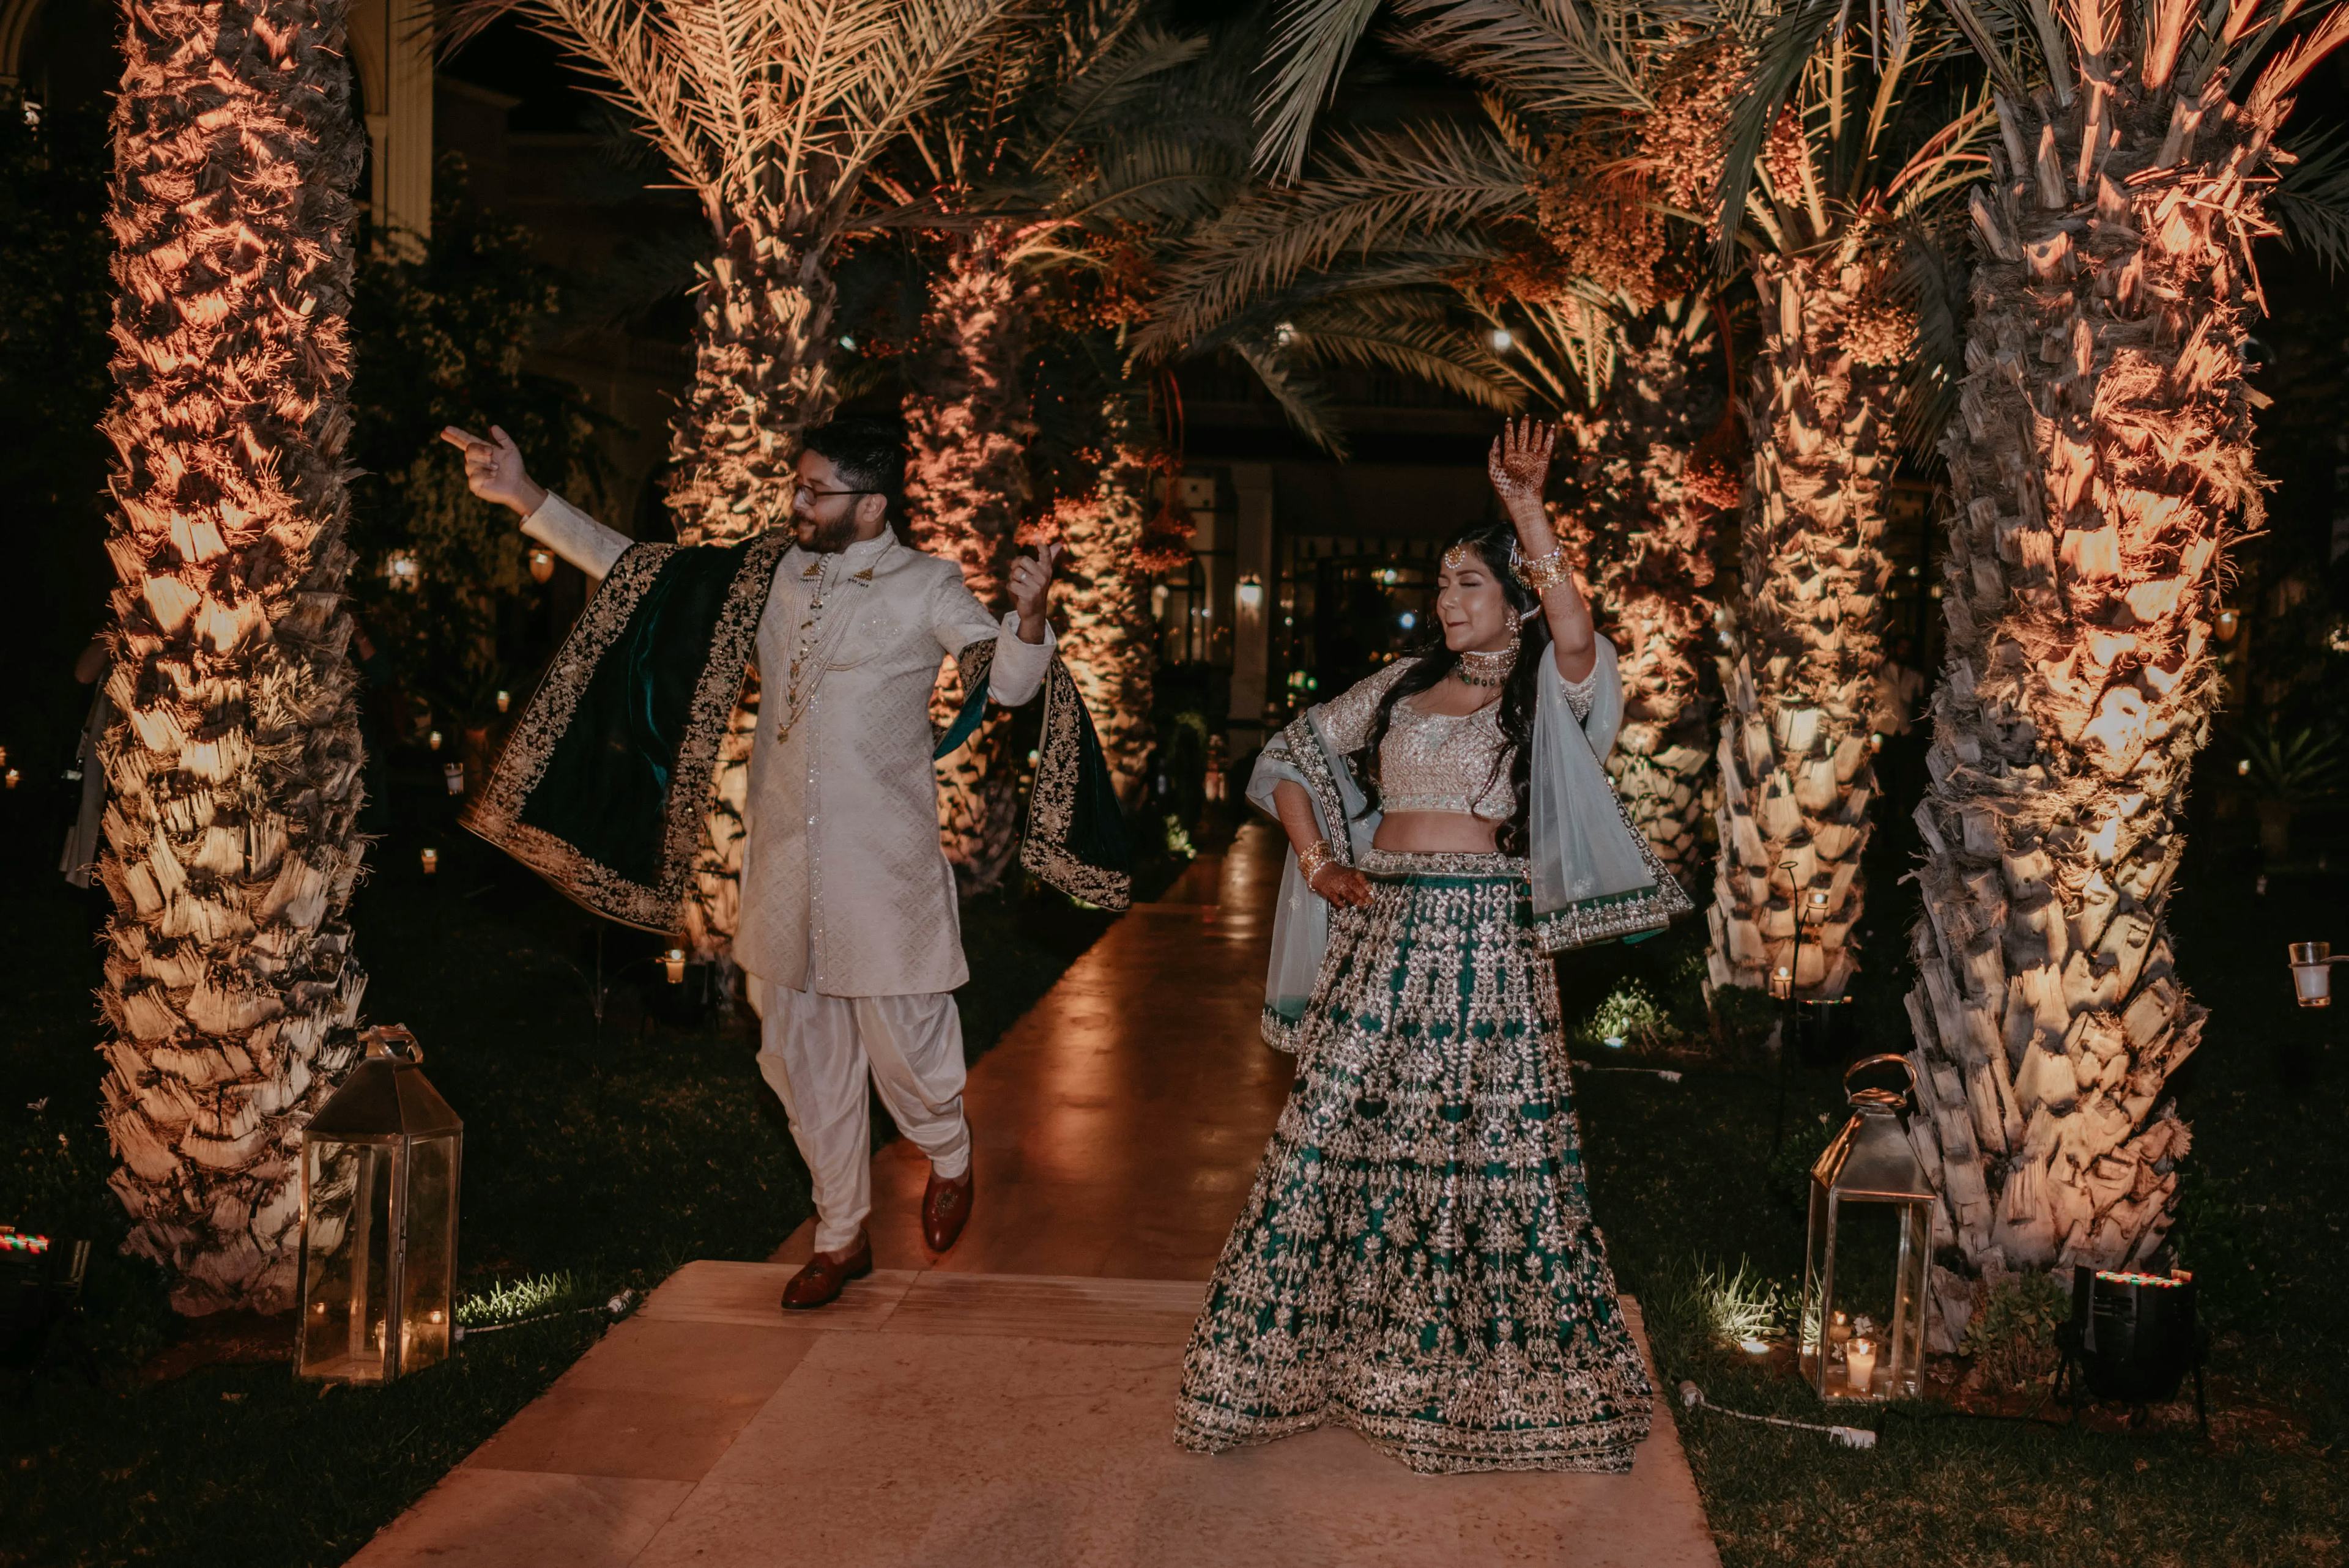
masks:
[[[824,354],[836,291],[822,249],[754,218],[716,225],[723,239],[702,270],[693,385],[669,430],[669,507],[686,545],[733,545],[789,526],[799,434],[834,406]],[[752,676],[719,744],[709,831],[686,899],[686,941],[702,960],[726,960],[742,915],[756,732]]]

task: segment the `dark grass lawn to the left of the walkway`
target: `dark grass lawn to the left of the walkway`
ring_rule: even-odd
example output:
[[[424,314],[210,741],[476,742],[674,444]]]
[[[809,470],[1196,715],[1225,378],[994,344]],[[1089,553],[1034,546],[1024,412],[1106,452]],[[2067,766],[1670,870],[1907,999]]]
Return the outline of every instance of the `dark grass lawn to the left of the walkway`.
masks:
[[[338,1563],[545,1390],[601,1322],[564,1312],[474,1336],[451,1364],[385,1390],[296,1383],[287,1329],[263,1319],[214,1319],[186,1343],[153,1272],[110,1253],[122,1214],[96,1127],[92,904],[31,852],[45,824],[38,843],[31,812],[9,826],[23,852],[0,890],[0,1221],[101,1237],[89,1296],[108,1387],[56,1371],[28,1404],[0,1404],[0,1563]],[[416,847],[432,840],[442,869],[425,878]],[[651,962],[655,941],[606,927],[599,1038],[592,918],[444,826],[395,829],[371,864],[352,915],[366,1016],[416,1030],[425,1073],[465,1117],[460,1291],[566,1275],[552,1305],[599,1303],[688,1258],[766,1258],[806,1218],[808,1176],[759,1080],[747,1014],[723,1030],[688,1019]],[[1106,922],[1057,894],[968,906],[970,1052]],[[216,1364],[223,1347],[272,1359]]]

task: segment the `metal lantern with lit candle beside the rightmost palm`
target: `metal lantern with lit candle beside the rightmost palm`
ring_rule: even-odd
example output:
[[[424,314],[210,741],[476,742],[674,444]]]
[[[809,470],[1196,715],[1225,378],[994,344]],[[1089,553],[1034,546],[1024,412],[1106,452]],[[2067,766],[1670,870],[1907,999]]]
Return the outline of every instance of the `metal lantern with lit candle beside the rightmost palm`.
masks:
[[[1851,1089],[1851,1120],[1811,1167],[1811,1244],[1802,1272],[1802,1371],[1820,1399],[1912,1399],[1924,1366],[1933,1185],[1900,1113],[1910,1091]]]

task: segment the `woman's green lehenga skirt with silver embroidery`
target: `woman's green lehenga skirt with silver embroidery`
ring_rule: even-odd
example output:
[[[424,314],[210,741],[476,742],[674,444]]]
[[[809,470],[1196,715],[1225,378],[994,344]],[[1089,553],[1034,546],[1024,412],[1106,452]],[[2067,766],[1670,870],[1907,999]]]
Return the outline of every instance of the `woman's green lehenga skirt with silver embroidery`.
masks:
[[[1369,850],[1184,1352],[1174,1439],[1346,1425],[1419,1472],[1630,1469],[1651,1392],[1590,1223],[1525,861]]]

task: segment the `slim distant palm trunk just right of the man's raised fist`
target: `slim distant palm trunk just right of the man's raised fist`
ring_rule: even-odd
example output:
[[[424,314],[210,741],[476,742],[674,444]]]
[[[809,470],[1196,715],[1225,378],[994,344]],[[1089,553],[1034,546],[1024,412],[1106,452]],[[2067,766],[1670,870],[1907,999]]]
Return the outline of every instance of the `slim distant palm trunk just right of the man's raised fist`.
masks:
[[[1120,413],[1111,411],[1111,430],[1118,430]],[[1149,573],[1137,566],[1142,530],[1149,526],[1149,460],[1118,448],[1102,469],[1099,488],[1055,512],[1059,538],[1069,547],[1069,559],[1055,573],[1055,601],[1066,620],[1059,653],[1092,714],[1102,758],[1125,810],[1142,800],[1156,744],[1151,584]]]

